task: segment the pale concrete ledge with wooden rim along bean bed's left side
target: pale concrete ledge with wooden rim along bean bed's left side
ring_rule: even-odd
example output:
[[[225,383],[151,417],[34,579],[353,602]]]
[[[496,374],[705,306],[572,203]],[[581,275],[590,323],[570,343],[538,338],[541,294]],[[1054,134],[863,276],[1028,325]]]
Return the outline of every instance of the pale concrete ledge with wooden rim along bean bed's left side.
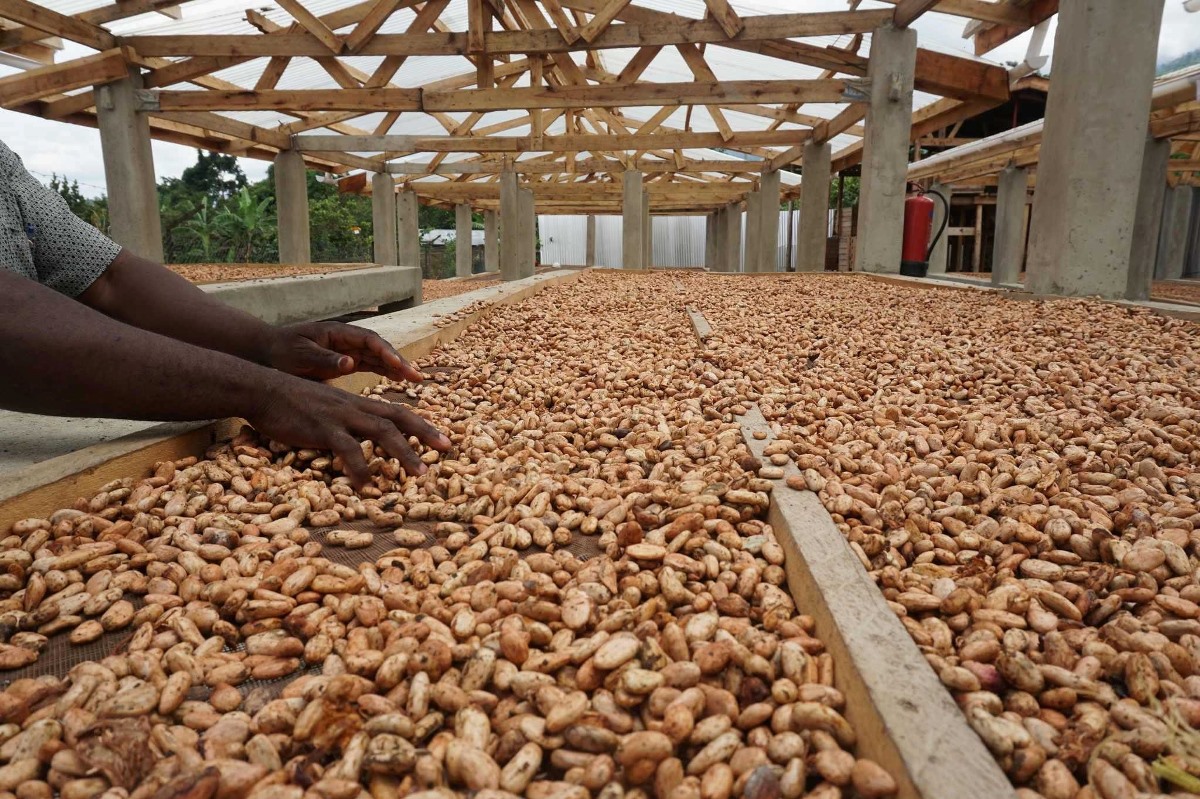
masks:
[[[420,276],[419,270],[413,271]],[[518,302],[546,284],[575,280],[581,274],[545,272],[354,324],[378,332],[406,358],[416,359],[487,313],[487,305]],[[486,305],[445,324],[445,317],[475,302]],[[362,373],[336,383],[349,391],[359,391],[376,382],[378,377]],[[56,507],[66,507],[76,497],[103,485],[109,475],[136,474],[156,459],[203,452],[211,441],[236,432],[239,423],[239,420],[162,423],[66,419],[0,410],[0,501],[52,488],[54,499],[50,501],[58,501]],[[18,510],[22,505],[20,501],[11,503]],[[5,519],[0,519],[0,528],[4,523]]]

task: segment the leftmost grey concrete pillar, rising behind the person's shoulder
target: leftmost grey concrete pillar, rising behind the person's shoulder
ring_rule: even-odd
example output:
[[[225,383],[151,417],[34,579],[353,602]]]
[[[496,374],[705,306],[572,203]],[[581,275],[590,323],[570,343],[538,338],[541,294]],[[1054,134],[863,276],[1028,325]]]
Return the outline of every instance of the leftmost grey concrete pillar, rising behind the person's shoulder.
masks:
[[[131,68],[128,78],[95,91],[100,151],[108,185],[108,220],[116,244],[143,258],[162,262],[162,220],[150,122],[137,110],[136,92],[140,88],[140,72]]]

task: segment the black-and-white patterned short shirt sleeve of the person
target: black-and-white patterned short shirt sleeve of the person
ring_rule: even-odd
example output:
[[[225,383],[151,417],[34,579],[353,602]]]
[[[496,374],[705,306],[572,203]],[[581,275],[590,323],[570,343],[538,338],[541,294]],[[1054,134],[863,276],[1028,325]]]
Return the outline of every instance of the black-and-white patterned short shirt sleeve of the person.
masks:
[[[31,241],[38,282],[67,296],[83,294],[113,263],[120,245],[72,214],[62,197],[30,175],[2,144],[0,155],[12,156],[4,172]]]

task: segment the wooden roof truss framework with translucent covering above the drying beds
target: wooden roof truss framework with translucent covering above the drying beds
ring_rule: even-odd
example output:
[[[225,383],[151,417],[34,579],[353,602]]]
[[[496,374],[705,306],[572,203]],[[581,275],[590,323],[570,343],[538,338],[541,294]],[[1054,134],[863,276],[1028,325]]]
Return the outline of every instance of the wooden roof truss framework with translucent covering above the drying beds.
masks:
[[[52,58],[60,37],[95,53],[0,78],[0,107],[95,126],[88,89],[137,70],[139,108],[164,140],[257,158],[295,149],[324,172],[390,173],[430,202],[478,190],[487,203],[504,169],[559,197],[536,187],[602,187],[636,168],[652,176],[656,210],[740,200],[758,172],[799,163],[812,140],[838,145],[835,169],[857,163],[862,49],[881,25],[954,14],[977,30],[978,49],[980,36],[998,41],[1057,7],[887,0],[758,13],[739,0],[680,0],[686,16],[640,0],[344,0],[316,13],[314,0],[277,0],[268,13],[247,7],[236,30],[202,34],[143,16],[205,0],[112,0],[76,14],[61,2],[0,0],[0,52]],[[415,70],[428,59],[455,66]],[[731,65],[748,59],[774,68],[746,79]],[[914,84],[935,98],[914,112],[914,138],[1009,91],[1002,66],[928,48]],[[797,191],[785,181],[785,198]]]

